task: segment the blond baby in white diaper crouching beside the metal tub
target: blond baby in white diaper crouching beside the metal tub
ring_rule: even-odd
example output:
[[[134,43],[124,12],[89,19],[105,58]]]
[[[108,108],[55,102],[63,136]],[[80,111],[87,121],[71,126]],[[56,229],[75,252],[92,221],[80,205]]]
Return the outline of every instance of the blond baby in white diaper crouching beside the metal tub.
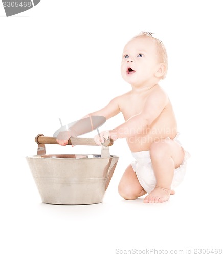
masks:
[[[141,32],[125,45],[122,55],[121,74],[131,90],[87,115],[109,119],[121,112],[124,116],[123,124],[95,136],[98,145],[108,137],[125,138],[136,160],[126,168],[119,183],[119,194],[124,199],[148,194],[144,203],[165,202],[185,175],[187,152],[178,140],[171,102],[158,84],[167,68],[163,43],[151,33]],[[68,139],[58,135],[57,142],[66,145]]]

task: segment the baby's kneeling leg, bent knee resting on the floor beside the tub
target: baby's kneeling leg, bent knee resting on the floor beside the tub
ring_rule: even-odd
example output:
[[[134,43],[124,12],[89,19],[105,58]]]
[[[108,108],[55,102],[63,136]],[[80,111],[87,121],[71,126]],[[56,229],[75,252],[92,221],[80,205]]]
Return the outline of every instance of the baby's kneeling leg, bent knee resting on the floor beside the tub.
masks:
[[[136,199],[146,194],[131,165],[126,168],[119,182],[118,190],[120,196],[128,200]]]

